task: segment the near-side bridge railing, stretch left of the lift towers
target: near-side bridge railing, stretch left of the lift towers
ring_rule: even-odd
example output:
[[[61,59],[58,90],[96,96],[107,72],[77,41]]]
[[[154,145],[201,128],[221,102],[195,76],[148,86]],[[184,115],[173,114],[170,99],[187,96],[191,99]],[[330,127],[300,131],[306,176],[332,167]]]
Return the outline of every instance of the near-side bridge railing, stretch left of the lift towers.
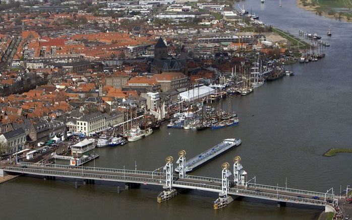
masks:
[[[20,167],[6,167],[8,171],[20,172],[20,173],[30,173],[36,175],[52,175],[58,177],[72,177],[72,178],[82,178],[82,179],[104,179],[112,181],[134,181],[140,183],[150,183],[156,185],[164,185],[165,180],[159,178],[147,178],[147,177],[136,177],[128,175],[110,175],[110,174],[98,174],[98,173],[86,173],[86,172],[72,172],[72,171],[58,171],[58,170],[46,170],[46,169],[33,169],[33,168],[20,168]]]

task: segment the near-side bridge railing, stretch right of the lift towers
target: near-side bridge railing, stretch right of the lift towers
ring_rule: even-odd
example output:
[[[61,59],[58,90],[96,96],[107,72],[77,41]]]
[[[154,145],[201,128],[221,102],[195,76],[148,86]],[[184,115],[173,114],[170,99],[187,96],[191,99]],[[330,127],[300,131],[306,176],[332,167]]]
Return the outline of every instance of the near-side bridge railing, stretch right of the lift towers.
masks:
[[[230,194],[244,195],[244,196],[252,195],[253,197],[265,198],[265,199],[271,199],[271,200],[290,201],[294,203],[305,203],[305,204],[313,204],[313,205],[327,204],[324,200],[311,199],[311,198],[299,198],[299,197],[289,196],[289,195],[281,195],[281,194],[268,193],[268,192],[258,192],[258,191],[238,189],[238,188],[230,188],[228,191]]]

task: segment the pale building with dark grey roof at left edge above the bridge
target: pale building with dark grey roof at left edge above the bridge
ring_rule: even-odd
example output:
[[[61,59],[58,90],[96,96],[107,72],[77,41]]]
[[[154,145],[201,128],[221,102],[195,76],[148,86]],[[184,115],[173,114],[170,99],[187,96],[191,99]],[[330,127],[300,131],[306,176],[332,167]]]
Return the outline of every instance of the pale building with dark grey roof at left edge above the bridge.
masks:
[[[26,133],[23,128],[18,128],[0,135],[0,142],[7,144],[5,154],[13,154],[25,148]]]

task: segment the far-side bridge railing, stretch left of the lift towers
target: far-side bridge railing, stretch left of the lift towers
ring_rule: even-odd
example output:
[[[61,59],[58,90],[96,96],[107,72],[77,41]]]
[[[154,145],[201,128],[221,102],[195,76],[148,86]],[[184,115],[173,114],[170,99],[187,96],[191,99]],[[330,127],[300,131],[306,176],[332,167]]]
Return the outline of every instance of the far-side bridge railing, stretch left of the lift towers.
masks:
[[[27,167],[38,167],[38,168],[53,168],[53,169],[65,169],[65,170],[83,170],[100,173],[124,173],[135,174],[135,175],[146,175],[146,176],[164,176],[165,173],[151,172],[151,171],[140,171],[140,170],[124,170],[124,169],[111,169],[101,167],[84,167],[84,166],[70,166],[70,165],[57,165],[57,164],[39,164],[39,163],[28,163],[20,162],[20,165]]]

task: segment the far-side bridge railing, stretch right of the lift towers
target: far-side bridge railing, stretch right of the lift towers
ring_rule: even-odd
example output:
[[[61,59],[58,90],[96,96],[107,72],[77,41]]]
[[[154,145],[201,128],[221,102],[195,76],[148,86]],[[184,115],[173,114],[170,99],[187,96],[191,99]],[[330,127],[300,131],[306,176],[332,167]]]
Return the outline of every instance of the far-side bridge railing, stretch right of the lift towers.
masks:
[[[301,195],[325,197],[325,193],[323,192],[315,192],[315,191],[308,191],[308,190],[302,190],[302,189],[292,189],[292,188],[286,188],[286,187],[280,187],[280,186],[277,187],[277,186],[270,186],[270,185],[247,183],[247,187],[261,188],[261,189],[272,190],[272,191],[278,190],[281,192],[295,193],[295,194],[301,194]],[[326,198],[333,198],[333,194],[327,193]]]

